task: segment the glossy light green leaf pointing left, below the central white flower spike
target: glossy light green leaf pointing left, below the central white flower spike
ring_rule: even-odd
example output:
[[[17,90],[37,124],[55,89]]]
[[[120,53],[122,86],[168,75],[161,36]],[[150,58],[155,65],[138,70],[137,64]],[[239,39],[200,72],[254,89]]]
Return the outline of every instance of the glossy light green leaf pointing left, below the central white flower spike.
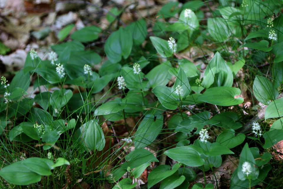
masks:
[[[119,112],[120,110],[123,110],[126,105],[121,104],[122,99],[121,98],[115,98],[114,100],[111,100],[110,102],[106,102],[105,104],[102,104],[101,106],[97,107],[94,115],[107,115],[111,113]]]

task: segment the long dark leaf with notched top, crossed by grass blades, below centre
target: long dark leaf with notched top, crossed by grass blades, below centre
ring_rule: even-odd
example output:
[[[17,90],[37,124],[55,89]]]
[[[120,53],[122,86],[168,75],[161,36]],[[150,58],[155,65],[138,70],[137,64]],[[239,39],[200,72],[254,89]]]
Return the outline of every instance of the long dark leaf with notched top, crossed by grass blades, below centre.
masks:
[[[155,121],[151,114],[145,115],[135,134],[135,149],[151,144],[162,131],[162,127],[163,115],[158,115]]]

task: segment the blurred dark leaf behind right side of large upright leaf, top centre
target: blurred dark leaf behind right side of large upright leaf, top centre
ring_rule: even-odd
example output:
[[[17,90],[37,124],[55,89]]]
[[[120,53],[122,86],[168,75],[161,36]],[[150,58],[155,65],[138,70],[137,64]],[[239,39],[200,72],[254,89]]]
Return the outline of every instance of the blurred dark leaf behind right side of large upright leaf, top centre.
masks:
[[[147,22],[144,19],[140,19],[125,27],[125,30],[131,33],[136,45],[141,45],[147,37]]]

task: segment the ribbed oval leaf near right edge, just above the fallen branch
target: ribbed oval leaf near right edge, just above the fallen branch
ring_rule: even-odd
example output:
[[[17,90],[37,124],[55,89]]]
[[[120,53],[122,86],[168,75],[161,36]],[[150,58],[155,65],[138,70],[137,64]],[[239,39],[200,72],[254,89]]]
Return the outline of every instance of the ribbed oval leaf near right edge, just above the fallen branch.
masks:
[[[269,104],[270,100],[275,100],[279,96],[277,88],[262,76],[256,76],[253,85],[254,95],[263,104]]]

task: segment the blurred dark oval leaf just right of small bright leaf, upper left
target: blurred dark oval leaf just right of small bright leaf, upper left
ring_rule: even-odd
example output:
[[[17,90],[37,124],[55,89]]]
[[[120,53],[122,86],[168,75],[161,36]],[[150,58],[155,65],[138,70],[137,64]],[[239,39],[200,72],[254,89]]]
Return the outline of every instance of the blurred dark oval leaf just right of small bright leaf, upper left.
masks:
[[[75,31],[72,35],[71,38],[73,40],[78,40],[80,42],[88,42],[88,41],[93,41],[98,38],[98,33],[101,32],[100,27],[96,26],[86,26],[83,29]]]

